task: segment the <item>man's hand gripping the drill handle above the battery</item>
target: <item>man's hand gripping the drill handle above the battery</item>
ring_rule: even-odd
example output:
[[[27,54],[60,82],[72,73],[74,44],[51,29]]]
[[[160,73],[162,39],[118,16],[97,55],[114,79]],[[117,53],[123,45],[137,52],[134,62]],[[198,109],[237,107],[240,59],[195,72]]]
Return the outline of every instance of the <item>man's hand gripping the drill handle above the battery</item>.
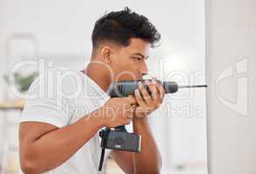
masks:
[[[134,116],[135,107],[137,104],[134,97],[113,97],[109,99],[103,107],[98,111],[104,121],[106,127],[117,127],[119,125],[130,124]]]

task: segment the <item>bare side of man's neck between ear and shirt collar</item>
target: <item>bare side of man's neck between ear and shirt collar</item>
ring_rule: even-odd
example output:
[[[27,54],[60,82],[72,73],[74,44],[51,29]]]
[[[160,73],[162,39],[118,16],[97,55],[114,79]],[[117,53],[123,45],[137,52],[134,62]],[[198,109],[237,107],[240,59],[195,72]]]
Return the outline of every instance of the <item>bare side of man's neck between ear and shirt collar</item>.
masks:
[[[107,75],[105,75],[104,70],[101,70],[99,66],[90,63],[87,65],[86,69],[82,70],[82,72],[98,84],[102,90],[108,90],[111,82]]]

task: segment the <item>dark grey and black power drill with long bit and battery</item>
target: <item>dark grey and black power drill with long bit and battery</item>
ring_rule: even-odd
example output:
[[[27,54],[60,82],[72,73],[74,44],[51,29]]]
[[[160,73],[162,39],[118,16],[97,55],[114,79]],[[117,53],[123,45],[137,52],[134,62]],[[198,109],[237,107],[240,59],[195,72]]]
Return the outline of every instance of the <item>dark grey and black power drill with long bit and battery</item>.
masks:
[[[152,80],[148,80],[152,82]],[[158,84],[162,84],[165,93],[175,93],[179,88],[200,88],[207,87],[207,85],[179,85],[175,82],[161,82],[156,80]],[[119,81],[111,84],[107,93],[110,97],[129,97],[135,96],[134,92],[138,89],[138,82],[141,82],[148,93],[151,95],[152,91],[145,84],[145,80],[136,80],[136,81]],[[118,126],[114,129],[105,128],[99,132],[99,136],[102,137],[101,148],[102,154],[100,159],[100,164],[98,171],[101,171],[103,160],[104,160],[104,150],[118,150],[118,151],[132,151],[139,152],[141,147],[141,136],[129,133],[125,129],[125,125]]]

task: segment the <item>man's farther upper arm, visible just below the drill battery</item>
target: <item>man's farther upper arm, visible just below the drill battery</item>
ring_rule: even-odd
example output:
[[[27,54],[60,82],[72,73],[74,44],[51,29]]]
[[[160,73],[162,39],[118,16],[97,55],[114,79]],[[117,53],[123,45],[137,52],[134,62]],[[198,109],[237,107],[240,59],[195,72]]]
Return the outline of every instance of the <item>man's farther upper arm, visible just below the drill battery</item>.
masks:
[[[129,151],[111,151],[111,157],[126,174],[134,173],[133,153]]]

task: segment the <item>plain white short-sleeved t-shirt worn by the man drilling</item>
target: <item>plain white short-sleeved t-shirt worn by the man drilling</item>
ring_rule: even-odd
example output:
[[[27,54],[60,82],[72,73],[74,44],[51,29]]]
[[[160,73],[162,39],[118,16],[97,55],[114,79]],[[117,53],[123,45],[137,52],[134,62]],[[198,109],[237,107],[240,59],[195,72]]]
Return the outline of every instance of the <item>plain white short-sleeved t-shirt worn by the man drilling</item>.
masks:
[[[59,128],[77,122],[110,98],[84,73],[63,68],[48,71],[47,77],[37,77],[28,94],[30,99],[27,99],[20,122],[44,122]],[[106,150],[104,157],[110,153]],[[96,134],[64,164],[46,174],[98,173],[100,154],[100,137]]]

